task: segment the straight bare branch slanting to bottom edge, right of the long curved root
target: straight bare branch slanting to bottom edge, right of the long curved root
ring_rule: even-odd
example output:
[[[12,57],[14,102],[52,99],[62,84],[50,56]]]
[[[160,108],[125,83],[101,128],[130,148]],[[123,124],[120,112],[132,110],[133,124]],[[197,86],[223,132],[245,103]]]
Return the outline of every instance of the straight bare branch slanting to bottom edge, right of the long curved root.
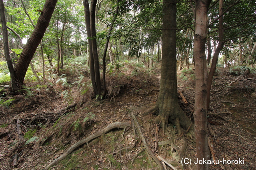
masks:
[[[133,114],[133,111],[130,113],[132,119],[134,120],[134,125],[137,127],[138,130],[138,135],[140,136],[140,138],[142,139],[142,142],[144,143],[144,147],[145,149],[148,151],[148,153],[150,154],[150,156],[155,160],[156,164],[158,165],[160,170],[164,170],[163,165],[161,164],[161,162],[158,160],[158,158],[156,157],[156,155],[153,154],[153,152],[149,149],[148,144],[146,142],[145,137],[142,134],[142,130],[140,128],[140,124],[138,123],[136,117]]]

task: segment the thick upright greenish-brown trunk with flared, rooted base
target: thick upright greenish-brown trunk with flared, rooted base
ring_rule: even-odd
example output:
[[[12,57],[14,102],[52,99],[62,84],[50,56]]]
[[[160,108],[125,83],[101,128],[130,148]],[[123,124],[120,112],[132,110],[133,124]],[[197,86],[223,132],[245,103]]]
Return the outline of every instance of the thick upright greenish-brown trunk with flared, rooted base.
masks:
[[[178,104],[176,75],[176,1],[163,1],[162,67],[160,92],[157,99],[159,118],[164,128],[168,121],[187,129],[191,123]],[[194,129],[194,126],[191,128]]]

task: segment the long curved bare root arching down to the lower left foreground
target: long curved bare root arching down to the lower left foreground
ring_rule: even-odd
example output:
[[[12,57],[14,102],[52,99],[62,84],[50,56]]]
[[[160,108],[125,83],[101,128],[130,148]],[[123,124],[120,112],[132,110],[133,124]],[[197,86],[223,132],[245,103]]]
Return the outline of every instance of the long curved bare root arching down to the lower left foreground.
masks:
[[[46,166],[46,168],[44,168],[44,170],[48,170],[51,166],[57,164],[60,160],[64,159],[68,154],[70,154],[73,150],[80,147],[84,143],[88,143],[89,141],[92,141],[93,139],[95,139],[97,137],[100,137],[104,133],[108,133],[112,129],[115,129],[115,128],[124,129],[125,127],[130,127],[130,126],[131,125],[130,125],[129,122],[116,122],[116,123],[112,123],[111,125],[108,125],[107,127],[102,129],[101,131],[98,131],[98,132],[86,137],[85,139],[82,139],[82,140],[78,141],[74,145],[72,145],[72,147],[70,147],[64,154],[62,154],[61,156],[59,156],[58,158],[53,160],[48,166]]]

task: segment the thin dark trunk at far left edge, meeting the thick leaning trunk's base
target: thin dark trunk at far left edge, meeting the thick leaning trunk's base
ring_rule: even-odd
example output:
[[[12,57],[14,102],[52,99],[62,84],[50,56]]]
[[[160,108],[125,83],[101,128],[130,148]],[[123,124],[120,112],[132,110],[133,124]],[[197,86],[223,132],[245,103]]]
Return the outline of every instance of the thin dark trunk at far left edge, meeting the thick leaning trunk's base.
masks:
[[[16,76],[15,76],[15,72],[14,72],[14,68],[12,65],[12,60],[11,60],[10,52],[9,52],[8,31],[7,31],[7,26],[6,26],[5,14],[4,14],[3,0],[0,0],[0,16],[1,16],[1,24],[2,24],[2,29],[3,29],[4,57],[6,59],[8,70],[10,72],[12,90],[17,91],[17,90],[19,90],[19,88],[17,87],[17,84],[16,84]]]

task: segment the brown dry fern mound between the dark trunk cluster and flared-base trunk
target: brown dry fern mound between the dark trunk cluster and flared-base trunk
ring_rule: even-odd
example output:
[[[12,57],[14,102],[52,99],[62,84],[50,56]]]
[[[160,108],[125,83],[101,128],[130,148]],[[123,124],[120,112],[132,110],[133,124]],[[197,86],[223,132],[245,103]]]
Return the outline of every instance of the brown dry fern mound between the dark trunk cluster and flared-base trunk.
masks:
[[[114,98],[123,90],[137,94],[145,94],[149,86],[158,84],[158,79],[153,72],[146,70],[142,62],[119,61],[122,67],[116,68],[108,64],[106,72],[107,97]]]

